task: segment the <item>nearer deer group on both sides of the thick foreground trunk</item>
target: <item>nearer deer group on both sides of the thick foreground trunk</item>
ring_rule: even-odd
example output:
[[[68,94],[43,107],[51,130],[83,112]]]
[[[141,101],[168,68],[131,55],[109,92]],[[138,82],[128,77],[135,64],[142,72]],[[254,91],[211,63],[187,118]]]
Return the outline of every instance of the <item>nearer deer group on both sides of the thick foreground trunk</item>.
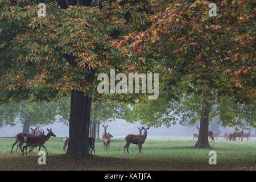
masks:
[[[103,139],[103,147],[104,147],[104,151],[108,151],[110,150],[110,143],[111,143],[111,138],[114,137],[112,134],[108,133],[106,131],[106,129],[108,128],[109,125],[105,126],[102,125],[104,127],[104,133],[102,134],[102,139]],[[16,146],[16,152],[18,151],[18,147],[20,148],[20,151],[22,151],[22,156],[24,155],[24,150],[26,150],[26,155],[27,155],[27,148],[29,148],[29,153],[31,153],[33,151],[33,149],[35,147],[39,146],[39,150],[41,149],[41,147],[44,148],[44,150],[46,150],[46,147],[44,146],[44,143],[46,143],[50,137],[56,137],[56,135],[52,132],[52,129],[47,129],[48,134],[44,135],[44,131],[42,129],[38,127],[36,127],[35,129],[31,129],[31,133],[18,133],[15,135],[15,142],[13,143],[13,146],[11,147],[11,151],[10,153],[13,152],[13,147],[15,146],[15,144],[17,144]],[[138,127],[139,129],[139,127]],[[125,146],[124,146],[124,150],[127,149],[127,152],[129,153],[129,146],[130,143],[133,144],[137,144],[137,146],[139,146],[139,153],[141,153],[142,150],[142,144],[145,142],[146,138],[147,138],[147,130],[149,129],[149,127],[147,129],[144,129],[144,127],[142,127],[142,129],[139,129],[139,134],[138,135],[134,135],[134,134],[129,134],[125,137]],[[142,130],[144,130],[144,133],[142,135]],[[69,142],[69,138],[65,137],[63,138],[63,151],[66,151],[66,147],[68,146],[68,142]],[[23,143],[26,143],[25,146],[22,147]],[[89,137],[88,138],[88,144],[89,144],[89,152],[92,155],[95,155],[95,149],[94,149],[94,144],[95,144],[95,138],[93,137]],[[46,150],[46,153],[48,155],[48,152]]]

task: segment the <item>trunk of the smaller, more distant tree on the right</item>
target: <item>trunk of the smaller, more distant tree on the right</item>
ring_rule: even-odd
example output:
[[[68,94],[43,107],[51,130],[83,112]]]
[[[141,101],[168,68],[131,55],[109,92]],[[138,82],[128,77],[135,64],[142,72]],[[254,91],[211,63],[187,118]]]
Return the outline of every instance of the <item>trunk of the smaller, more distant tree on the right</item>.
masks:
[[[204,96],[202,110],[201,110],[201,118],[200,118],[199,138],[195,145],[196,148],[210,148],[209,141],[208,141],[209,114],[210,114],[210,104],[206,96]]]

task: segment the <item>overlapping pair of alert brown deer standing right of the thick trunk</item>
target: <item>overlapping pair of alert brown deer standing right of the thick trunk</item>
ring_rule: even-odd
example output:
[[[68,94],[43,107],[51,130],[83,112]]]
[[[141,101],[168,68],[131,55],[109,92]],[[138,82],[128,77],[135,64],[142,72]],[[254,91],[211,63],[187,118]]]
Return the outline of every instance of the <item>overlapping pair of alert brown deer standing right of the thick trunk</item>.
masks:
[[[129,148],[131,143],[138,144],[138,146],[139,146],[139,153],[141,153],[142,144],[145,142],[145,140],[147,138],[147,130],[150,129],[150,128],[148,127],[147,129],[144,129],[144,127],[142,127],[142,129],[144,130],[143,135],[129,134],[129,135],[127,135],[125,137],[126,144],[125,144],[125,146],[123,148],[124,148],[124,151],[125,151],[125,148],[127,149],[127,153],[128,154],[129,154],[128,148]]]

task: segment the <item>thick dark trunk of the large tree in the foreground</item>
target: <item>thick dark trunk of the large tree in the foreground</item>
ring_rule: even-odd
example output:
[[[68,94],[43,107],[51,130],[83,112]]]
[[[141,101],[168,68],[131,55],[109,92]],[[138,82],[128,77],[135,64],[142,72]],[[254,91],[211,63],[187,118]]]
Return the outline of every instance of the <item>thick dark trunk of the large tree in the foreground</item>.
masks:
[[[93,85],[95,71],[92,71],[85,80]],[[84,96],[84,92],[72,90],[71,111],[69,119],[69,142],[67,155],[86,156],[89,155],[89,126],[90,109],[92,106],[92,94]]]

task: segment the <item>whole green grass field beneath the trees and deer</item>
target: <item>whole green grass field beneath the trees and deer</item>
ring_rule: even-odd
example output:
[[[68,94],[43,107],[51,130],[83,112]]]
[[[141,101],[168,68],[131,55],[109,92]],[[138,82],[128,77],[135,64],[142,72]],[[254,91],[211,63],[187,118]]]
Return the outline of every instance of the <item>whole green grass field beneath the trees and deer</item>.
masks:
[[[46,165],[39,165],[38,147],[32,154],[10,154],[14,138],[0,138],[0,170],[256,170],[256,138],[228,142],[218,138],[212,149],[195,148],[192,137],[148,137],[138,154],[131,144],[123,154],[123,138],[112,138],[110,151],[104,151],[102,140],[96,140],[96,155],[70,158],[62,151],[63,138],[50,138],[45,144],[49,155]],[[41,149],[44,151],[44,149]],[[209,151],[216,151],[217,164],[210,165]]]

